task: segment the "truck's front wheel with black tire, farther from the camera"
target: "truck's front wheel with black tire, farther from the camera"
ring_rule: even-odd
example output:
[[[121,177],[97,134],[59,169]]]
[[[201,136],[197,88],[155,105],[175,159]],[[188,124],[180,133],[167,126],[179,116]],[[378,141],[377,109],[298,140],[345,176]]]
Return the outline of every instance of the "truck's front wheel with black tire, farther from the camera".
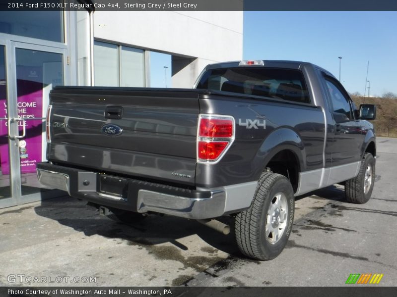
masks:
[[[364,204],[371,198],[375,183],[375,158],[366,152],[356,177],[346,181],[344,192],[351,203]]]

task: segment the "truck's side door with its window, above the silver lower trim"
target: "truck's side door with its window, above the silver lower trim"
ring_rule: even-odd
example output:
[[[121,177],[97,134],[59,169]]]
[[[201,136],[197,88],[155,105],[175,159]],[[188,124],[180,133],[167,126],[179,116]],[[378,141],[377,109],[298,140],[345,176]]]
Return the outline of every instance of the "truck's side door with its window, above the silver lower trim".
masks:
[[[360,121],[354,118],[351,99],[342,85],[326,77],[326,86],[333,118],[332,140],[328,142],[332,167],[357,162],[362,143]]]

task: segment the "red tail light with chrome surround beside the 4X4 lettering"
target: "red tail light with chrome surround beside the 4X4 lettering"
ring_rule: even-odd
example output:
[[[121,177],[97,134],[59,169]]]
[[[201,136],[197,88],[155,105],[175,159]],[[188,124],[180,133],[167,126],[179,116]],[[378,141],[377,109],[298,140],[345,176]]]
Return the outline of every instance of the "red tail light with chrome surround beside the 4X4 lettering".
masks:
[[[234,141],[234,118],[200,114],[197,131],[197,161],[217,163]]]

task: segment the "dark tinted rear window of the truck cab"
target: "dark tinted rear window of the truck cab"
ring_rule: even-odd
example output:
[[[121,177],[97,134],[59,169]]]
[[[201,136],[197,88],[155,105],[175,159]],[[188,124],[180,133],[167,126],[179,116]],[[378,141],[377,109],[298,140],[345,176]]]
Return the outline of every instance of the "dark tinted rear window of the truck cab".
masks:
[[[293,69],[212,69],[203,74],[197,88],[310,103],[303,75]]]

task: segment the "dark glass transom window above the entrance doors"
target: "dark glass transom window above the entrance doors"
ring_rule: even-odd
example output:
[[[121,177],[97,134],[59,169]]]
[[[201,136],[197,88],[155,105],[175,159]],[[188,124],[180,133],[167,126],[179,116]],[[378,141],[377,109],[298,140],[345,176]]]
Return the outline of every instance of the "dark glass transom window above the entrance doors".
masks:
[[[64,42],[63,11],[0,11],[0,32]]]

